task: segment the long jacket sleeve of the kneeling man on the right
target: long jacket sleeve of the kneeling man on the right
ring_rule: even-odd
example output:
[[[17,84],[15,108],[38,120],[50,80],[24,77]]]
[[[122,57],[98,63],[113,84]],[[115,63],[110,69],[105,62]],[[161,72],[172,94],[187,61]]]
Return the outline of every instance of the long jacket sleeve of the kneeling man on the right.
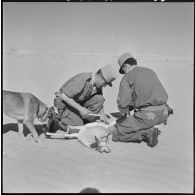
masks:
[[[121,113],[127,113],[134,108],[134,103],[132,100],[132,86],[133,82],[130,82],[126,78],[121,80],[117,98],[118,109]]]

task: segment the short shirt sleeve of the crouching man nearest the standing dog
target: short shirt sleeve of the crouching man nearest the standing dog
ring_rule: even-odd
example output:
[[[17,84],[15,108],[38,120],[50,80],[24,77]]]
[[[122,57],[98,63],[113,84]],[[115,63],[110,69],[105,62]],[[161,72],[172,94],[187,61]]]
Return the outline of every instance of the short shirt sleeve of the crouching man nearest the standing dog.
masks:
[[[68,97],[74,98],[83,91],[85,84],[86,79],[81,73],[72,77],[66,83],[64,83],[64,85],[60,88],[60,91],[66,94]]]

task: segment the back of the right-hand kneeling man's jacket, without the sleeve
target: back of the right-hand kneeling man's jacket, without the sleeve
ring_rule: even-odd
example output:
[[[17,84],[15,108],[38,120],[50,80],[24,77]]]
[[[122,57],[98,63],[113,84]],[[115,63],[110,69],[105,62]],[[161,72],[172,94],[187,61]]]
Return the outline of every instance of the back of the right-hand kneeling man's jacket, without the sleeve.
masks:
[[[149,68],[135,66],[122,80],[126,80],[132,89],[131,98],[135,108],[161,105],[167,102],[166,90],[156,73]]]

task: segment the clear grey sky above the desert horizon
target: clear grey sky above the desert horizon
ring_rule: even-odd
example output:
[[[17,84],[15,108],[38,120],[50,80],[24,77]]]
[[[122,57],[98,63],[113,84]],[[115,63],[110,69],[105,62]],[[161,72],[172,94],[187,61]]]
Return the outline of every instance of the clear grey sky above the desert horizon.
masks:
[[[4,2],[5,51],[193,56],[193,3]]]

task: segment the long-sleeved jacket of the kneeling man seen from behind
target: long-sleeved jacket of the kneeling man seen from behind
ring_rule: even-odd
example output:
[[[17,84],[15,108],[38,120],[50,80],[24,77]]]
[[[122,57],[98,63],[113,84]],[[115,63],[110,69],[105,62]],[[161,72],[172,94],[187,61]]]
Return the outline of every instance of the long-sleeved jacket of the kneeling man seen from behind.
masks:
[[[167,100],[165,88],[156,73],[149,68],[136,66],[120,82],[117,105],[122,113],[146,106],[162,105]]]

